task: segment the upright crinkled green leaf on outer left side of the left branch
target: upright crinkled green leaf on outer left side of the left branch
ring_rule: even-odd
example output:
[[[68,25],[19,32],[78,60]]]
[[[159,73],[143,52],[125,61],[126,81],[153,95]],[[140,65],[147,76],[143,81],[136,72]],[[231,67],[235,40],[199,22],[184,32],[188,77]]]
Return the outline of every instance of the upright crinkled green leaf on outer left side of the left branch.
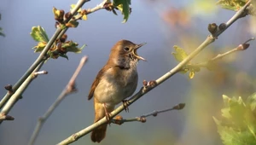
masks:
[[[33,26],[32,32],[30,32],[30,35],[37,42],[48,43],[49,41],[49,38],[42,26]]]

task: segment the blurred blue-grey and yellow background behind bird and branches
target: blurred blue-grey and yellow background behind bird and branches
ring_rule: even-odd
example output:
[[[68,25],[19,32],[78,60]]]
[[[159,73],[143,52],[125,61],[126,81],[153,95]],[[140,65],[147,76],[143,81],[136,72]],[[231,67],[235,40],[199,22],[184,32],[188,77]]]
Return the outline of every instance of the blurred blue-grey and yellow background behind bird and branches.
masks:
[[[83,9],[93,8],[101,2],[90,1],[84,4]],[[55,32],[52,8],[67,12],[72,3],[77,1],[1,1],[0,27],[3,27],[6,37],[0,37],[0,98],[6,93],[4,86],[15,84],[39,55],[32,50],[37,45],[29,34],[32,26],[43,26],[50,38]],[[23,94],[23,99],[15,104],[9,113],[15,120],[4,121],[0,125],[0,144],[27,144],[38,117],[59,96],[84,55],[89,56],[89,61],[76,81],[79,91],[61,102],[45,122],[36,144],[56,144],[91,125],[94,108],[93,102],[87,101],[87,95],[96,74],[108,60],[113,44],[120,39],[136,44],[147,43],[138,51],[148,60],[138,64],[139,90],[143,79],[159,78],[177,65],[172,56],[173,45],[189,53],[207,38],[209,23],[226,22],[235,14],[215,3],[216,0],[134,0],[131,1],[132,13],[125,24],[121,23],[123,16],[119,12],[116,16],[102,9],[88,15],[88,20],[79,21],[78,28],[67,31],[68,40],[87,47],[81,54],[67,54],[68,61],[59,58],[44,64],[42,70],[49,74],[36,78]],[[236,21],[193,62],[207,61],[255,37],[254,19],[247,16]],[[255,91],[256,44],[250,44],[249,49],[224,57],[214,71],[201,69],[193,79],[189,79],[188,74],[177,73],[132,104],[129,113],[120,115],[125,119],[134,118],[180,102],[186,103],[183,110],[160,113],[157,117],[149,117],[146,123],[111,125],[101,144],[221,144],[212,116],[220,116],[222,95],[246,98]],[[95,143],[88,135],[73,144]]]

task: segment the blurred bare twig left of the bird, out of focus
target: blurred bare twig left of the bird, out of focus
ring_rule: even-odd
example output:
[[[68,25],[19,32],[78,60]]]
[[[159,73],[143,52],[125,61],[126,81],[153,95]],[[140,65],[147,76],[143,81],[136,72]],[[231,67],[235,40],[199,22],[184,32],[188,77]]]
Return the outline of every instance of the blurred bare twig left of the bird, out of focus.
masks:
[[[55,100],[55,102],[48,108],[47,112],[44,113],[44,115],[38,119],[38,124],[36,125],[36,128],[34,129],[34,131],[32,133],[32,136],[28,143],[29,145],[32,145],[35,143],[35,141],[38,137],[38,133],[41,130],[42,126],[44,125],[44,122],[49,118],[50,114],[53,113],[53,111],[61,103],[61,101],[67,95],[76,91],[75,80],[78,77],[82,67],[84,67],[84,64],[86,61],[87,61],[87,57],[84,56],[79,63],[79,67],[76,69],[76,71],[73,73],[72,78],[70,78],[69,82],[67,83],[67,86],[65,87],[64,90],[62,90],[61,95],[58,96],[58,98]]]

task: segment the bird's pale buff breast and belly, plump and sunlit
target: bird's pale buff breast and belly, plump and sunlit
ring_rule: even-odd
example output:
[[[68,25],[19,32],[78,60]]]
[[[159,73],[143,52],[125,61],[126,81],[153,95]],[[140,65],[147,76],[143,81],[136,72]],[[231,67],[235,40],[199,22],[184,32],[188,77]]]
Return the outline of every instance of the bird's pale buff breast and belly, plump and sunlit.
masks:
[[[110,68],[103,74],[94,97],[107,105],[116,105],[131,96],[137,88],[137,69]]]

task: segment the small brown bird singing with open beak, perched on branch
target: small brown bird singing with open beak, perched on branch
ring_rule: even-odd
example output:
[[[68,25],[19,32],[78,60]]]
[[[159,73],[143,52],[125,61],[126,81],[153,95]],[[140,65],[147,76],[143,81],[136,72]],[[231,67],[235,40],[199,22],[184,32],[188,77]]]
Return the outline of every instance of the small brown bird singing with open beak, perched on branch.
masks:
[[[131,96],[137,88],[137,62],[146,61],[137,55],[137,49],[144,44],[133,44],[128,40],[120,40],[111,49],[108,61],[97,74],[90,87],[88,100],[94,96],[94,122],[106,118],[119,102]],[[124,103],[125,105],[125,103]],[[101,142],[106,136],[107,124],[99,126],[91,132],[92,142]]]

